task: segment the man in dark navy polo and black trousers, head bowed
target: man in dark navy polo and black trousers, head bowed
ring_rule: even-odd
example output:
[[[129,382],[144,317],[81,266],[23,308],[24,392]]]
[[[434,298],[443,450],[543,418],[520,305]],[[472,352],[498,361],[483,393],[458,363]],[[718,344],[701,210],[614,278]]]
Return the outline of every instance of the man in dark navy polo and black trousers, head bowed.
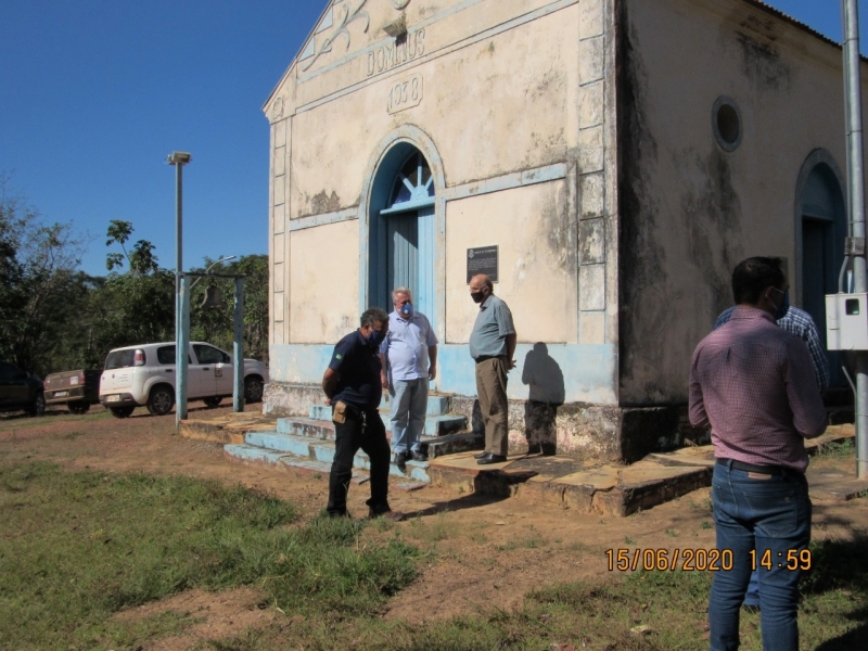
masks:
[[[401,520],[388,506],[388,442],[378,407],[383,397],[380,386],[380,343],[388,328],[388,315],[379,307],[365,310],[358,330],[334,346],[332,360],[322,375],[322,391],[332,406],[334,461],[329,475],[329,506],[333,518],[348,516],[346,494],[353,478],[353,459],[359,448],[371,461],[369,518]]]

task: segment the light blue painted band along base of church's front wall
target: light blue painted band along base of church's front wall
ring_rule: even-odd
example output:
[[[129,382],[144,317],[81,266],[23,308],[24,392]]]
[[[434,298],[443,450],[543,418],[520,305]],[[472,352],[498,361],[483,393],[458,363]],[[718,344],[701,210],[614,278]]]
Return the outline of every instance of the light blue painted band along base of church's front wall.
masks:
[[[617,348],[611,344],[519,344],[518,367],[509,374],[513,400],[617,404]],[[432,391],[476,395],[475,362],[467,344],[441,344],[438,378]],[[270,373],[275,382],[314,384],[331,360],[331,344],[272,345]]]

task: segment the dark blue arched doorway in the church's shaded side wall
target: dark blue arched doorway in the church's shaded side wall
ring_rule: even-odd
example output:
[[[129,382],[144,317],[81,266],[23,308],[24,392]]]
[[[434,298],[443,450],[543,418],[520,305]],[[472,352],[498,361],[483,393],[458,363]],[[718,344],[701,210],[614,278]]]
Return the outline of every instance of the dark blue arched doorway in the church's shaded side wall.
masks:
[[[838,276],[844,261],[844,238],[847,233],[844,195],[838,167],[831,156],[814,152],[800,175],[796,208],[801,234],[802,308],[817,324],[826,348],[826,294],[838,292]],[[830,383],[842,386],[838,353],[827,353]]]

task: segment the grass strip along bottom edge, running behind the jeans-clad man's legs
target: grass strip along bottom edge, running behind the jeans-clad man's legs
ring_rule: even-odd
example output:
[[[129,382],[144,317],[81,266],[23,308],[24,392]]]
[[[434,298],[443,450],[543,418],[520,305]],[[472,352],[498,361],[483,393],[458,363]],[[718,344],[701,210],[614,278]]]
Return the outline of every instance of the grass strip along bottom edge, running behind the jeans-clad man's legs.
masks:
[[[815,570],[803,583],[799,623],[802,649],[861,651],[868,631],[868,540],[812,547]],[[368,616],[321,618],[288,629],[247,631],[215,649],[276,648],[371,651],[536,651],[573,647],[593,651],[704,651],[709,595],[706,572],[635,572],[607,579],[533,590],[505,611],[486,604],[443,622],[386,622]],[[761,651],[758,615],[741,617],[741,648]]]

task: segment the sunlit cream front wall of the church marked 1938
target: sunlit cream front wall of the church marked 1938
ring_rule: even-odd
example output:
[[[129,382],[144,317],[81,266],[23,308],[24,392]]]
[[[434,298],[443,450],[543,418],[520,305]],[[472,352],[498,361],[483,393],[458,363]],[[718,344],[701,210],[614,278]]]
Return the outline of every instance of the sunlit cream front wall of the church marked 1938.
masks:
[[[302,409],[297,386],[319,382],[368,304],[373,179],[403,142],[437,181],[435,388],[475,394],[467,250],[497,245],[520,340],[510,398],[572,404],[559,450],[616,457],[620,421],[590,407],[617,403],[614,0],[411,0],[401,41],[382,30],[400,15],[391,0],[331,7],[265,106],[267,408]]]

